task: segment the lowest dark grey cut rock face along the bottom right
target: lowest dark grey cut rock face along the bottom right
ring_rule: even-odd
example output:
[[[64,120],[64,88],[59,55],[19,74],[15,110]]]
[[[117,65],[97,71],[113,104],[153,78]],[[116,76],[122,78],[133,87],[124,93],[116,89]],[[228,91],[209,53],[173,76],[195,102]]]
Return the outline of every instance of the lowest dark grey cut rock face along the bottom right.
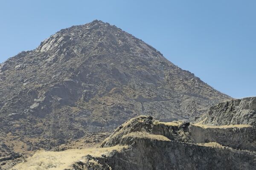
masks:
[[[255,153],[175,141],[132,139],[133,148],[105,161],[113,170],[254,170]],[[226,159],[225,159],[226,158]],[[105,163],[102,162],[103,164]]]

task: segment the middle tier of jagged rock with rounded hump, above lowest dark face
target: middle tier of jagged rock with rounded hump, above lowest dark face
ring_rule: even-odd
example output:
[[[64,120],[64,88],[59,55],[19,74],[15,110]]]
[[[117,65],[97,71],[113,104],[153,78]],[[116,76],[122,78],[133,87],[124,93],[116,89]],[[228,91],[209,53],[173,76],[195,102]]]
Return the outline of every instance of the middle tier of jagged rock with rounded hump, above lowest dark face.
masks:
[[[143,135],[145,133],[145,135]],[[102,147],[130,143],[129,136],[165,136],[167,140],[189,143],[217,142],[233,149],[256,151],[256,128],[254,127],[201,127],[190,122],[158,122],[151,116],[135,117],[116,130],[102,142]],[[160,137],[161,138],[161,137]],[[126,143],[128,142],[128,143]]]

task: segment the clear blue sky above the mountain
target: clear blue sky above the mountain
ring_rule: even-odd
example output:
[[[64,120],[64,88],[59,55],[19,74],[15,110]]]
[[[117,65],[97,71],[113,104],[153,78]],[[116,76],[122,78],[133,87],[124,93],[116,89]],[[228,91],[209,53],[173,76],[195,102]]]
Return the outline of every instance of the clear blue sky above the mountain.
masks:
[[[234,98],[256,96],[255,0],[1,0],[0,62],[98,19]]]

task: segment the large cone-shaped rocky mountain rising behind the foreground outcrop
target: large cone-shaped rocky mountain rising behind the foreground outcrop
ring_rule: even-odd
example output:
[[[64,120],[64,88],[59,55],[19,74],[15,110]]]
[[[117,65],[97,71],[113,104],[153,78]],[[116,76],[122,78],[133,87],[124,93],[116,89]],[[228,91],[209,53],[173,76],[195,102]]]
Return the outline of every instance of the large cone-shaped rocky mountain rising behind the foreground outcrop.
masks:
[[[0,65],[0,157],[109,132],[143,114],[193,119],[227,99],[142,40],[94,20]]]

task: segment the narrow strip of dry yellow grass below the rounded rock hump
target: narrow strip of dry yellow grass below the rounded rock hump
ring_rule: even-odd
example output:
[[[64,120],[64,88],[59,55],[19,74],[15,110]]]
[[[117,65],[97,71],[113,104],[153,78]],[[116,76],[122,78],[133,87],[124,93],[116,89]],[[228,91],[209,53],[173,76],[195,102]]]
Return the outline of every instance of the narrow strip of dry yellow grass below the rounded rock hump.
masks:
[[[140,137],[140,138],[148,138],[148,139],[157,139],[160,141],[170,141],[170,139],[166,138],[166,136],[163,135],[154,135],[147,132],[132,132],[128,133],[127,135],[122,136],[122,138],[125,138],[127,136],[133,136],[133,137]]]

